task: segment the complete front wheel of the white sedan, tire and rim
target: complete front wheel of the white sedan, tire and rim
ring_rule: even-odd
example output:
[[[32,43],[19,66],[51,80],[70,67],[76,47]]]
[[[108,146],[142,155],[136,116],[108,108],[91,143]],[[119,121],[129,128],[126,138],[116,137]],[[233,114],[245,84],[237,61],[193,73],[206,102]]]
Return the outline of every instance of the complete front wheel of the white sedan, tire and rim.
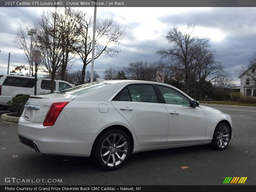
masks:
[[[227,124],[220,123],[216,126],[213,133],[211,145],[217,150],[224,150],[230,141],[230,129]]]

